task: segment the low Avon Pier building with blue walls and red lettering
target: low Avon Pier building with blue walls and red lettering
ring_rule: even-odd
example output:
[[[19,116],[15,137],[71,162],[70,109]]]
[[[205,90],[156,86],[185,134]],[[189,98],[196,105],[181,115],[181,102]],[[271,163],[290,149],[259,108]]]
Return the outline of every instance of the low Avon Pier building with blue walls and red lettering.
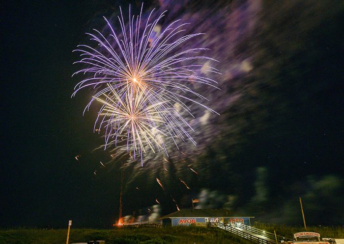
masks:
[[[161,217],[163,225],[168,226],[206,226],[207,223],[221,222],[224,224],[235,225],[243,223],[251,225],[250,218],[254,217],[234,217],[228,209],[181,209]]]

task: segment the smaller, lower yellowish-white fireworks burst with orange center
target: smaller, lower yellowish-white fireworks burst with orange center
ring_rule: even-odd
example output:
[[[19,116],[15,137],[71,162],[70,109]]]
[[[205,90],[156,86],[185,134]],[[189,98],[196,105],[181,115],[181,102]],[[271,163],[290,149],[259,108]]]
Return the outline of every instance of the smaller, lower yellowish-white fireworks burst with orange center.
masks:
[[[138,151],[142,154],[146,149],[155,153],[158,149],[167,151],[163,143],[163,137],[176,136],[182,138],[186,136],[194,144],[194,140],[183,128],[188,125],[175,108],[166,106],[166,101],[151,103],[147,94],[143,91],[130,92],[125,94],[125,98],[120,98],[113,87],[108,84],[111,94],[103,94],[105,99],[94,97],[100,101],[103,106],[98,113],[97,121],[100,121],[100,127],[106,130],[106,144],[110,138],[114,139],[115,146],[121,135],[126,134],[127,150],[133,148],[133,159],[136,158]],[[155,95],[152,93],[151,96]],[[189,126],[190,127],[190,126]],[[191,128],[191,127],[190,127]],[[182,131],[182,133],[181,133]],[[119,141],[123,141],[119,139]],[[130,153],[130,156],[131,153]]]

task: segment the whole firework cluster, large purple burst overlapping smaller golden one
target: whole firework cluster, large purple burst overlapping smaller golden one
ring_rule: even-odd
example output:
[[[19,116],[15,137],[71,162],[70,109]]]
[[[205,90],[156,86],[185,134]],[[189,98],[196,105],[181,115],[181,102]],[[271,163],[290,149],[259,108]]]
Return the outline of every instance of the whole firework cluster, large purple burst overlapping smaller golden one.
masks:
[[[138,155],[143,159],[143,154],[150,150],[164,151],[168,155],[165,146],[168,141],[177,146],[177,140],[189,140],[196,145],[189,134],[191,126],[180,115],[180,110],[184,110],[192,116],[189,104],[196,103],[216,113],[198,101],[206,98],[188,85],[198,82],[215,87],[216,84],[200,75],[202,65],[194,64],[196,60],[216,61],[197,55],[206,49],[183,49],[188,41],[202,33],[183,35],[186,24],[180,24],[179,20],[157,31],[158,22],[166,11],[151,21],[153,9],[146,23],[142,23],[142,8],[140,15],[131,16],[129,7],[128,24],[120,9],[119,34],[106,18],[110,34],[97,30],[95,34],[87,33],[90,40],[98,44],[98,49],[80,45],[75,50],[83,57],[76,63],[88,67],[74,74],[91,76],[79,82],[72,95],[83,88],[94,89],[85,111],[93,101],[101,102],[95,131],[104,131],[105,148],[112,142],[115,146],[125,144],[134,159]],[[206,70],[219,73],[210,66],[206,66]]]

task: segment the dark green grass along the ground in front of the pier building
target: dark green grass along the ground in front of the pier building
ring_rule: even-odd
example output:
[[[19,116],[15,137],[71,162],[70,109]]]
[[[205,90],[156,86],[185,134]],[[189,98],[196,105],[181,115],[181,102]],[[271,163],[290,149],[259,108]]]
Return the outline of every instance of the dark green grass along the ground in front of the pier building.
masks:
[[[302,227],[255,222],[255,227],[292,238]],[[316,226],[307,230],[320,233],[322,237],[344,238],[343,226]],[[10,229],[0,230],[0,244],[65,244],[66,229]],[[248,241],[216,228],[166,227],[127,228],[107,230],[71,228],[69,243],[104,240],[106,244],[249,244]]]

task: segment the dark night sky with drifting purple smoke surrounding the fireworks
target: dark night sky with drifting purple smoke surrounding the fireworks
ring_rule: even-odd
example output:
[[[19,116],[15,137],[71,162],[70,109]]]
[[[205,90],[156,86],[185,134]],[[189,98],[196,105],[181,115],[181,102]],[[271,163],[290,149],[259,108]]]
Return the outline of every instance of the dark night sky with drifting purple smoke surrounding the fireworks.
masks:
[[[162,215],[176,211],[172,198],[181,208],[199,198],[199,207],[302,225],[301,196],[310,224],[342,224],[343,2],[144,2],[143,12],[170,12],[163,27],[182,19],[209,33],[202,44],[223,74],[215,77],[221,90],[205,91],[221,115],[196,112],[196,149],[182,145],[187,157],[174,148],[169,160],[154,155],[143,167],[94,150],[104,138],[93,133],[96,109],[83,116],[91,95],[71,98],[80,81],[71,75],[82,68],[72,51],[129,3],[139,11],[139,1],[2,5],[0,227],[110,227],[121,163],[123,216],[147,214],[156,199]]]

